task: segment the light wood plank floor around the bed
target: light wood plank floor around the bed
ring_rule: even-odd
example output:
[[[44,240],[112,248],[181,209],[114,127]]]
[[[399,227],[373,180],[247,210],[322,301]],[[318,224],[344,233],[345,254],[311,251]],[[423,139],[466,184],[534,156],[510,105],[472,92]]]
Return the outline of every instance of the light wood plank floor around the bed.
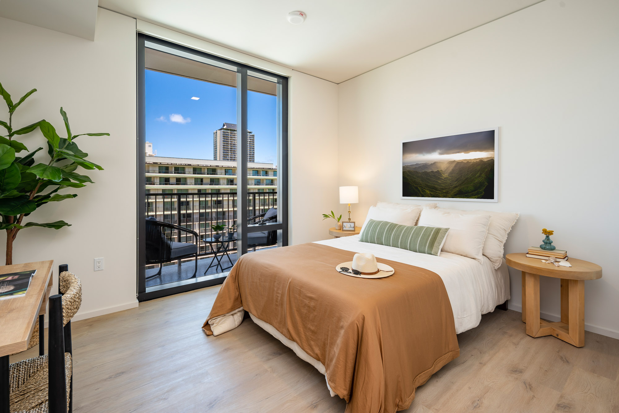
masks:
[[[251,320],[207,337],[201,326],[217,291],[72,324],[74,411],[344,412],[324,376]],[[586,332],[578,349],[524,330],[515,311],[483,316],[407,412],[619,412],[619,340]]]

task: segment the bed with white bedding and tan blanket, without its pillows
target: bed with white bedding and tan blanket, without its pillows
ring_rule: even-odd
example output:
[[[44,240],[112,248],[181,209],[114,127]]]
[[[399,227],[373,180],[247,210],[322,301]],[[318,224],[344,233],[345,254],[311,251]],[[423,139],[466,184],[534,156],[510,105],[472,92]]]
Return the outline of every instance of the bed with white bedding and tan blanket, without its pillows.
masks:
[[[331,395],[348,402],[347,412],[406,409],[415,389],[458,357],[456,334],[508,300],[508,272],[504,264],[495,270],[485,257],[480,264],[461,255],[419,254],[359,239],[244,255],[204,330],[230,331],[247,310],[258,326],[326,376]],[[376,284],[380,280],[335,272],[336,264],[356,252],[371,252],[396,273]],[[410,279],[402,286],[381,290],[405,275]],[[344,295],[331,296],[342,290]]]

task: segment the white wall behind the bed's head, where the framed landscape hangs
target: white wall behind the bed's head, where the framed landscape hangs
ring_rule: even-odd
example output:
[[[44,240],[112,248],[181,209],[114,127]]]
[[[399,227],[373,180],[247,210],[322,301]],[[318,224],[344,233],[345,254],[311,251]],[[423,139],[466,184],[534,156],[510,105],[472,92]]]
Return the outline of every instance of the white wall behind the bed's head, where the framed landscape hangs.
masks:
[[[339,147],[355,162],[339,182],[360,187],[355,219],[400,201],[400,141],[498,126],[499,202],[439,207],[521,213],[507,253],[554,229],[558,248],[604,269],[586,282],[587,329],[619,338],[618,16],[617,1],[547,0],[340,84]],[[559,282],[542,278],[542,311],[557,316]]]

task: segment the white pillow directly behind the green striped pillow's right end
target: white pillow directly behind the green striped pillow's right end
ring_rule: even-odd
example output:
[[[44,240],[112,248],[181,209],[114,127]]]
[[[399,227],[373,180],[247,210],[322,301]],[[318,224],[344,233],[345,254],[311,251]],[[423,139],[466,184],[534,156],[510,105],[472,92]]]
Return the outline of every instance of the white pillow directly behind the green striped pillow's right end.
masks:
[[[423,208],[420,226],[449,228],[441,251],[464,255],[483,263],[483,240],[488,233],[490,215],[464,215],[444,209]]]

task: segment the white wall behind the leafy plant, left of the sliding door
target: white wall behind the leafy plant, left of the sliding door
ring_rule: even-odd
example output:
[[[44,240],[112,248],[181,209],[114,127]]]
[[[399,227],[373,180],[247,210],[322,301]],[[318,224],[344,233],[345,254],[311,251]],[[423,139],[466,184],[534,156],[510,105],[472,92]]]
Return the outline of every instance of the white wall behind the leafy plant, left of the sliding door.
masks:
[[[95,42],[0,18],[0,81],[19,99],[36,87],[15,112],[14,123],[45,118],[64,136],[61,106],[73,133],[109,132],[76,140],[105,171],[85,171],[95,184],[62,193],[77,198],[50,202],[28,218],[64,220],[58,230],[28,228],[17,234],[13,262],[53,259],[54,291],[58,264],[82,280],[80,318],[106,308],[136,306],[136,24],[99,9]],[[4,102],[0,102],[0,108]],[[2,109],[0,118],[6,119]],[[37,130],[25,135],[28,149],[45,146]],[[45,146],[46,148],[46,146]],[[43,159],[43,156],[41,156]],[[4,245],[6,231],[1,231]],[[105,270],[93,271],[93,259],[105,258]]]

